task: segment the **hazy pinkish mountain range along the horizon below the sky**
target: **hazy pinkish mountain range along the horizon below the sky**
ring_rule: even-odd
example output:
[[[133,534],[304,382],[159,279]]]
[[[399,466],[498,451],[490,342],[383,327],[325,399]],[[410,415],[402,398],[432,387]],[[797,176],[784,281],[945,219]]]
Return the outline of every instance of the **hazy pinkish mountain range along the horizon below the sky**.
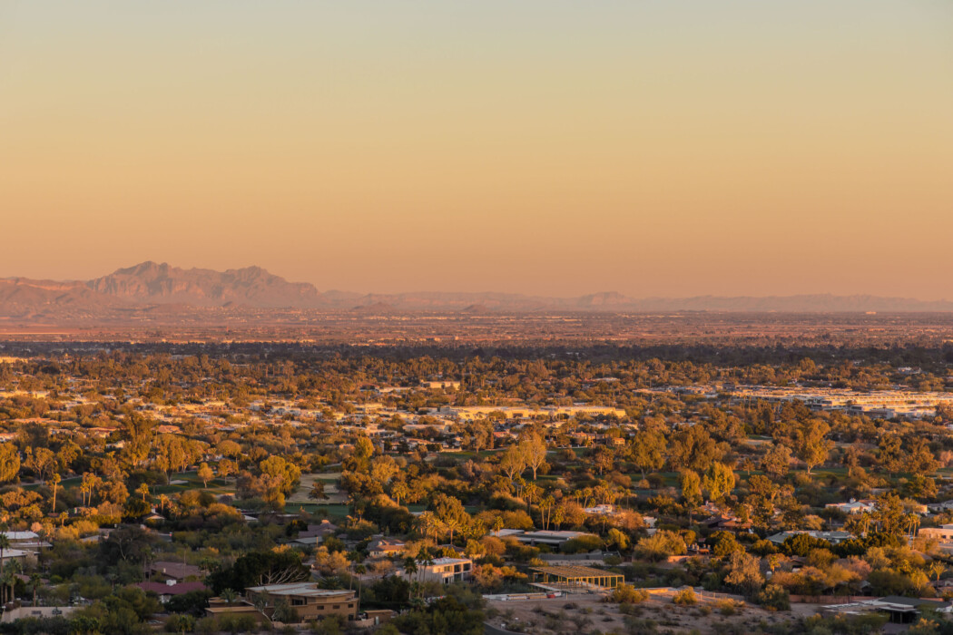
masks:
[[[515,293],[320,292],[307,283],[292,283],[263,268],[212,269],[142,263],[89,281],[0,278],[0,317],[55,319],[60,316],[122,315],[193,309],[318,309],[360,313],[450,311],[465,313],[527,311],[609,312],[905,312],[953,311],[953,302],[909,298],[829,294],[769,297],[698,296],[630,298],[616,292],[577,298],[549,298]]]

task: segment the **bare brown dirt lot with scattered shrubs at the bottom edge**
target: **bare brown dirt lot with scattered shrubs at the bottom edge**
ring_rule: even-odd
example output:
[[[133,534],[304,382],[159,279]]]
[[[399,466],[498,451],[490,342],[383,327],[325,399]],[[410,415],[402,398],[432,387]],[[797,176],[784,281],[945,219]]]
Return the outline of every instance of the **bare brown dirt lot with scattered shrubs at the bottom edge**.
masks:
[[[649,600],[633,605],[624,615],[619,605],[603,602],[598,594],[576,594],[546,600],[490,601],[490,624],[505,630],[539,635],[573,633],[744,633],[758,632],[754,627],[789,622],[800,616],[814,615],[817,605],[791,605],[790,612],[771,612],[758,606],[738,606],[733,611],[720,596],[702,596],[698,605],[672,604],[671,593],[654,594]],[[741,602],[741,598],[736,598]],[[731,613],[731,614],[725,614]],[[653,627],[654,624],[654,627]]]

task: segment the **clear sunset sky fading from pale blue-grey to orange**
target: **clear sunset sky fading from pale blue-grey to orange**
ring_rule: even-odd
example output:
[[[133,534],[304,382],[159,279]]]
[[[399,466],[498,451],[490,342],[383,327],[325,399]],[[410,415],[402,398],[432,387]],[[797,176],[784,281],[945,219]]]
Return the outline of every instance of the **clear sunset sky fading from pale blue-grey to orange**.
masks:
[[[949,0],[0,0],[0,276],[953,298]]]

